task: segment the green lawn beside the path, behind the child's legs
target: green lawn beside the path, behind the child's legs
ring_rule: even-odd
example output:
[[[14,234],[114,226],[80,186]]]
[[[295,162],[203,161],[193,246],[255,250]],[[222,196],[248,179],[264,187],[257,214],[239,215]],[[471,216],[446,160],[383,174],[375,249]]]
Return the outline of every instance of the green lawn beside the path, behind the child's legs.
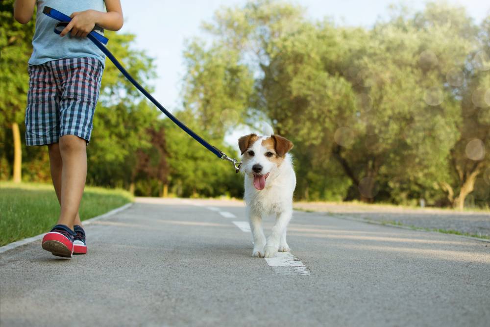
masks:
[[[86,187],[80,204],[83,220],[133,200],[124,190]],[[49,184],[0,182],[0,246],[48,231],[60,212]]]

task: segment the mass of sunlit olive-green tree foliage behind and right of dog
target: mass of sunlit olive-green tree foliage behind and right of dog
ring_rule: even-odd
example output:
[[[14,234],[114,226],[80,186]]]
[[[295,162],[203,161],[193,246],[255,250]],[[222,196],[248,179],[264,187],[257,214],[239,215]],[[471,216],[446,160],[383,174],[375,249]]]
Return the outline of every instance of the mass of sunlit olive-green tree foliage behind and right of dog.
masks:
[[[393,7],[371,29],[343,27],[260,0],[218,11],[204,24],[213,43],[188,52],[209,56],[206,69],[226,64],[217,51],[248,68],[255,86],[240,111],[294,141],[297,198],[459,206],[490,166],[488,22],[429,2],[416,13]],[[186,88],[222,80],[186,80]],[[477,184],[487,199],[490,186]]]

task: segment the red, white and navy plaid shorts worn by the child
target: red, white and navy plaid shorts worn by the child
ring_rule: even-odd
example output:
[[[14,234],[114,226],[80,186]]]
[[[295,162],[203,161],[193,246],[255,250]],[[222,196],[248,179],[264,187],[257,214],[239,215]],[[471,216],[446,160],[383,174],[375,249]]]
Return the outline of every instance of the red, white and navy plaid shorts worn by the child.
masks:
[[[76,135],[87,143],[92,133],[103,65],[91,57],[31,65],[25,110],[25,143],[57,143]]]

